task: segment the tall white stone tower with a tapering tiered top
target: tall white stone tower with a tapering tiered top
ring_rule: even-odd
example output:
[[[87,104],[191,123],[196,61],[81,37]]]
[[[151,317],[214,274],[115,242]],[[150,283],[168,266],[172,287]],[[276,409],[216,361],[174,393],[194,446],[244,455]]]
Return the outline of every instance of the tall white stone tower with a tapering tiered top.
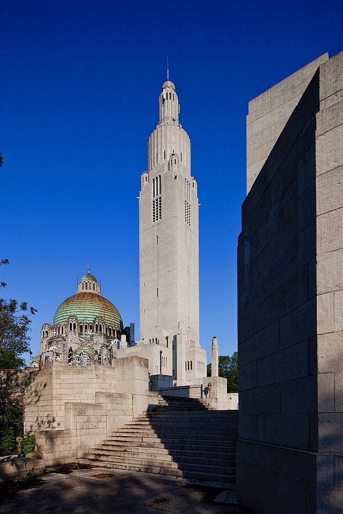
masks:
[[[204,376],[206,351],[199,345],[197,182],[169,80],[162,86],[159,112],[139,196],[140,331],[143,344],[164,346],[168,357],[162,374],[181,384]]]

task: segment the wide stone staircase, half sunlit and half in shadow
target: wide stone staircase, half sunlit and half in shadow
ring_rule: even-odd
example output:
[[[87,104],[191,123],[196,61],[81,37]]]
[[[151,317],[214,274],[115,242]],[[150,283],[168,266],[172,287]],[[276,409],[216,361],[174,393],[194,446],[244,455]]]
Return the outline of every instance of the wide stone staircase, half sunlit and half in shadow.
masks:
[[[82,462],[235,482],[237,437],[238,411],[217,411],[202,400],[165,396],[153,410],[90,449]]]

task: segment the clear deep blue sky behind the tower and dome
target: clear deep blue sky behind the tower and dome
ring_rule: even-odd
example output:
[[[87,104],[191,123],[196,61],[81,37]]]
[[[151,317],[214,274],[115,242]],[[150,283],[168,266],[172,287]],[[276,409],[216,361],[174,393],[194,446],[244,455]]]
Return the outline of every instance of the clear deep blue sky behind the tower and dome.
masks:
[[[3,0],[0,268],[44,322],[89,265],[139,337],[138,200],[166,79],[192,142],[200,342],[237,348],[236,248],[247,102],[343,50],[341,2]],[[208,228],[207,228],[208,227]]]

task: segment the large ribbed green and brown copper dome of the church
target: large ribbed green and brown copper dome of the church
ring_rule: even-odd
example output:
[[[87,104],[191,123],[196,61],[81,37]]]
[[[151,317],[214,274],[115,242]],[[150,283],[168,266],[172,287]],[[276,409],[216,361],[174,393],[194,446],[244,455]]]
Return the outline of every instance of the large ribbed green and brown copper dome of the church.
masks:
[[[100,316],[107,325],[123,328],[123,320],[116,307],[93,292],[79,292],[64,300],[56,310],[53,324],[66,323],[71,315],[77,316],[82,323],[93,323],[94,318]]]

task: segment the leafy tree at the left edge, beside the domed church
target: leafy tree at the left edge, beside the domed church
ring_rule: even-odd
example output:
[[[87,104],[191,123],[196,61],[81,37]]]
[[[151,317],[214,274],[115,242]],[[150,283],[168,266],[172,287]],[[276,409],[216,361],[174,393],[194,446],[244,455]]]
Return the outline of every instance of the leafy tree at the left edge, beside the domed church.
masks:
[[[8,259],[0,261],[0,266],[9,264]],[[5,287],[4,282],[1,287]],[[26,312],[29,314],[25,314]],[[31,320],[37,309],[28,308],[26,302],[6,301],[0,298],[0,369],[22,368],[25,361],[20,357],[29,351],[30,338],[27,336]]]

